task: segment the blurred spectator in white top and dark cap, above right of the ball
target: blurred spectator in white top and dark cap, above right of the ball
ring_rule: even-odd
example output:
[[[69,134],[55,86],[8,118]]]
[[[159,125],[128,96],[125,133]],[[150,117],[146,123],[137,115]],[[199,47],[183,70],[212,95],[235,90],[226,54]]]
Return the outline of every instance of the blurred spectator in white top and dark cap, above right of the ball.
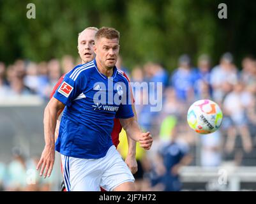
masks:
[[[213,87],[213,99],[216,103],[221,103],[227,94],[225,86],[234,85],[237,80],[237,68],[233,63],[233,56],[227,52],[222,55],[220,64],[211,70],[211,86]]]

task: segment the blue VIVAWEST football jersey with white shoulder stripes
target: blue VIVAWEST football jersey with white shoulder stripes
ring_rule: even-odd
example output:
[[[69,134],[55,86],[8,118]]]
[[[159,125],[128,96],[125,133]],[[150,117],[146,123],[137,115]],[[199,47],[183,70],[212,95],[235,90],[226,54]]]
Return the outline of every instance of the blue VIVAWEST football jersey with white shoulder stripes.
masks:
[[[54,98],[66,107],[56,150],[84,159],[98,159],[112,144],[114,117],[133,117],[128,80],[116,66],[112,77],[98,71],[96,61],[80,64],[64,77]]]

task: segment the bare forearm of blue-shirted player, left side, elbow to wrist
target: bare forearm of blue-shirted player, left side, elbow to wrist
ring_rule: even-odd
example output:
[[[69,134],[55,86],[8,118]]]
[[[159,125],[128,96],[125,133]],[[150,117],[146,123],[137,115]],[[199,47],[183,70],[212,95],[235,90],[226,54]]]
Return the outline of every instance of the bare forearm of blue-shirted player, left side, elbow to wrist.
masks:
[[[43,126],[45,133],[45,146],[55,147],[54,133],[56,129],[57,109],[47,105],[43,117]]]

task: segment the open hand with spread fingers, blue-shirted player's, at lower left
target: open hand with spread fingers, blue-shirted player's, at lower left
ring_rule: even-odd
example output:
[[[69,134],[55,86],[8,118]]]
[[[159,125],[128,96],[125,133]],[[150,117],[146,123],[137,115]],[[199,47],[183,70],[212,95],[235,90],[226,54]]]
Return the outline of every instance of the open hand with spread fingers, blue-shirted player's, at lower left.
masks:
[[[40,177],[43,175],[44,178],[50,177],[50,174],[52,173],[52,168],[54,166],[54,160],[55,160],[55,149],[54,147],[48,147],[45,146],[45,149],[43,149],[43,152],[41,153],[41,159],[38,162],[36,166],[36,170],[40,170]],[[45,170],[45,173],[43,171]]]

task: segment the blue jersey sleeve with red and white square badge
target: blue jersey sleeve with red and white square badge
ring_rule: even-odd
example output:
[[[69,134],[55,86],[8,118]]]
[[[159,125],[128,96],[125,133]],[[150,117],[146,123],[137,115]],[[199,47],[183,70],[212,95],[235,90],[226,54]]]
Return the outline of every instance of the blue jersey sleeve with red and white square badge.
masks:
[[[73,74],[73,72],[75,71],[66,74],[63,82],[59,85],[54,94],[54,98],[61,101],[66,106],[72,104],[72,101],[82,93],[84,86],[87,84],[86,75],[81,73],[79,76],[74,77],[75,74]]]

